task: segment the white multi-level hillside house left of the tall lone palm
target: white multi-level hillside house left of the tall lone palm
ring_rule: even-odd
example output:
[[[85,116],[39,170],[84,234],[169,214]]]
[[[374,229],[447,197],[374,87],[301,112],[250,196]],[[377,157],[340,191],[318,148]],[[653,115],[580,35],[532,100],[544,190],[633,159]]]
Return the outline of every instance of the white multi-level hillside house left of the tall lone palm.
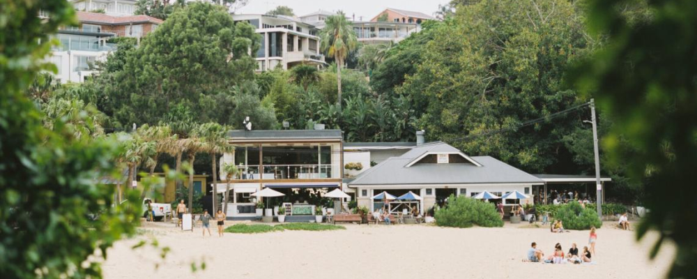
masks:
[[[235,22],[249,22],[261,34],[261,47],[256,53],[257,71],[277,67],[287,70],[301,64],[325,65],[314,25],[285,15],[246,14],[232,18]]]

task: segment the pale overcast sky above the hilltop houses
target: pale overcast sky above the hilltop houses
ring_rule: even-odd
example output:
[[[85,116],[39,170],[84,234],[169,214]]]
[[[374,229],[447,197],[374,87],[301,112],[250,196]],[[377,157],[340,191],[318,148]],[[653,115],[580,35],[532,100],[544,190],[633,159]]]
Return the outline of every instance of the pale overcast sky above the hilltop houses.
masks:
[[[266,13],[276,6],[289,6],[296,15],[307,15],[317,10],[335,12],[343,10],[348,17],[355,14],[355,20],[370,20],[385,8],[397,8],[412,10],[415,12],[433,15],[438,10],[438,4],[445,4],[449,0],[249,0],[247,6],[237,10],[241,13]]]

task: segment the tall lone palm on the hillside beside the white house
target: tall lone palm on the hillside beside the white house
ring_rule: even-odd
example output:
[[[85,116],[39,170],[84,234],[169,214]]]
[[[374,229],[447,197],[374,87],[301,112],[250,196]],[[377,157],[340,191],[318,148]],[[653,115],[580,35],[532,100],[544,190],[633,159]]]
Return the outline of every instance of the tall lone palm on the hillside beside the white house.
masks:
[[[337,104],[342,106],[342,67],[348,53],[358,47],[358,38],[353,31],[353,24],[346,20],[346,15],[339,12],[327,17],[325,27],[320,33],[321,50],[337,61]]]

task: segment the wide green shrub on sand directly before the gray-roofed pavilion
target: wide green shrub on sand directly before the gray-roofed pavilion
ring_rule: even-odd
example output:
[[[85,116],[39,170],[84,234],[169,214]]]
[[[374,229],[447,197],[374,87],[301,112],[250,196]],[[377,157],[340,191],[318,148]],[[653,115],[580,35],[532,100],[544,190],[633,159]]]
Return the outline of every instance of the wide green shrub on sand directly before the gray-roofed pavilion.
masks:
[[[503,227],[496,207],[470,197],[451,195],[447,206],[436,211],[436,225],[441,227]]]

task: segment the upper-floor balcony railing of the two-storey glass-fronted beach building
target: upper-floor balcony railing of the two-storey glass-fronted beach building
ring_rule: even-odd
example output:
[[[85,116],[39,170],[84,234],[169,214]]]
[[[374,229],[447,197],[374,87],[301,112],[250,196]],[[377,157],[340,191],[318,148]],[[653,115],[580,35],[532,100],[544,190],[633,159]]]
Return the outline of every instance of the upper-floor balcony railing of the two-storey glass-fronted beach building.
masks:
[[[333,165],[259,165],[238,166],[241,174],[233,179],[332,179]]]

